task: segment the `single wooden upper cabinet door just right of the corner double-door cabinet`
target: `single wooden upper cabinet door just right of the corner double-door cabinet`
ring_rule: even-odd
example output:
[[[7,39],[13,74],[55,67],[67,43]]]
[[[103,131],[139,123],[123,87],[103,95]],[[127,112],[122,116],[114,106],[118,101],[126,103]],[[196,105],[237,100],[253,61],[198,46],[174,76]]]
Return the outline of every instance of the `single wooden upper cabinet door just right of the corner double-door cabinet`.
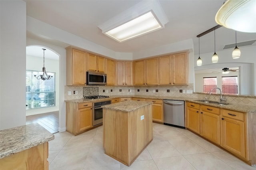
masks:
[[[134,85],[145,85],[145,60],[133,62]]]

